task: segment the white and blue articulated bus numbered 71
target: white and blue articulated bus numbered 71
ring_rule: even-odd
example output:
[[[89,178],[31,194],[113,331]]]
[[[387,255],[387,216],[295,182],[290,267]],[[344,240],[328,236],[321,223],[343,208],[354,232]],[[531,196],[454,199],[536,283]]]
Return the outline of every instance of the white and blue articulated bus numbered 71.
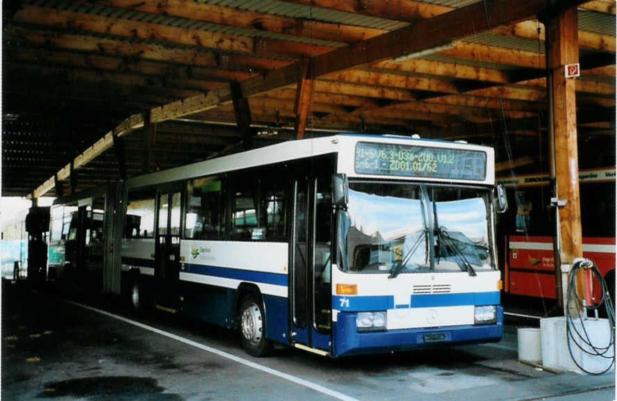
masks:
[[[56,277],[85,270],[69,241],[102,238],[104,291],[238,329],[256,356],[272,343],[341,357],[499,341],[494,190],[488,147],[282,142],[58,200],[49,266],[64,247]]]

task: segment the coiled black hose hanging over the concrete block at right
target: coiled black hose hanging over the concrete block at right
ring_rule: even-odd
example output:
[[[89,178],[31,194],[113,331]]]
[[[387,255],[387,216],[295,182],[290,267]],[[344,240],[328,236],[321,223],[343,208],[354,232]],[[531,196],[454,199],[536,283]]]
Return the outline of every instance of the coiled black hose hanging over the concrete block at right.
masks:
[[[593,263],[593,261],[590,261],[589,259],[577,261],[572,266],[572,270],[570,270],[570,275],[568,276],[568,294],[567,294],[568,296],[566,298],[566,309],[567,309],[567,306],[570,305],[570,302],[574,302],[575,304],[578,304],[579,302],[579,297],[577,295],[577,290],[576,290],[576,276],[577,276],[577,272],[581,268],[591,270],[592,277],[593,275],[595,275],[595,277],[598,279],[598,282],[600,282],[602,299],[600,300],[598,304],[583,305],[583,310],[581,313],[579,313],[579,322],[580,322],[580,326],[582,327],[582,333],[579,332],[577,327],[573,324],[573,320],[572,320],[573,318],[570,316],[570,313],[566,313],[566,333],[567,333],[566,336],[568,337],[567,338],[568,351],[570,352],[570,357],[572,357],[572,360],[574,361],[575,365],[580,370],[584,371],[585,373],[589,373],[590,375],[602,375],[604,373],[607,373],[609,369],[615,363],[615,347],[614,347],[615,345],[614,344],[615,311],[613,309],[613,302],[611,301],[611,294],[609,293],[607,283],[606,281],[604,281],[604,278],[602,277],[602,274],[600,273],[598,266],[596,266],[595,263]],[[609,327],[611,330],[610,341],[606,347],[598,347],[598,346],[593,345],[593,343],[591,343],[591,339],[589,338],[589,334],[587,333],[587,330],[584,325],[584,320],[583,320],[583,315],[586,317],[588,311],[597,311],[598,309],[600,309],[602,305],[604,305],[604,308],[607,311]],[[594,357],[602,357],[604,359],[611,359],[611,364],[608,366],[608,368],[606,368],[605,370],[602,370],[602,372],[591,372],[589,370],[584,369],[574,358],[574,355],[572,353],[571,343],[574,343],[579,348],[579,350],[582,350],[582,352],[586,354],[592,355]],[[607,353],[609,352],[609,350],[611,350],[611,347],[613,349],[613,354],[608,355]]]

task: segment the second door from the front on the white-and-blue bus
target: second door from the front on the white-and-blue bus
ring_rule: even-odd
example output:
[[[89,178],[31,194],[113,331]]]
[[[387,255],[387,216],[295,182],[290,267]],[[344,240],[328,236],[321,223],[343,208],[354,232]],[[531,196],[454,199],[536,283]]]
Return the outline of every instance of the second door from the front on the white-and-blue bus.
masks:
[[[158,194],[156,233],[156,306],[175,313],[179,309],[180,192]]]

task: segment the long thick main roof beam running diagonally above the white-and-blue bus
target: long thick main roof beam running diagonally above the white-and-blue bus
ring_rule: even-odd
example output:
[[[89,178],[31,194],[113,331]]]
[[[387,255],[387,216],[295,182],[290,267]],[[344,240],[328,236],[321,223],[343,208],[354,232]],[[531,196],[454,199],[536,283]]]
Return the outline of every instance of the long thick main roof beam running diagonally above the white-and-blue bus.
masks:
[[[561,1],[560,6],[568,8],[577,6],[579,3],[582,3],[582,1],[566,0]],[[387,58],[395,58],[425,49],[432,49],[475,32],[528,19],[543,12],[547,6],[546,0],[523,0],[516,3],[509,0],[495,0],[491,3],[472,3],[470,6],[454,10],[450,13],[425,19],[397,31],[316,56],[313,59],[315,63],[313,76],[322,76]],[[445,26],[448,28],[444,29]],[[263,76],[247,79],[241,83],[242,92],[245,95],[256,95],[290,85],[295,82],[301,69],[302,65],[294,63]],[[160,108],[154,108],[151,111],[151,122],[199,113],[222,104],[229,104],[229,101],[231,101],[231,90],[229,90],[229,87],[211,90],[206,94],[200,94],[183,101],[161,106]],[[139,115],[139,118],[141,119],[140,124],[143,125],[143,117]],[[135,121],[133,120],[133,122]],[[126,120],[124,125],[132,125],[131,119]],[[110,135],[113,135],[113,133],[110,133]],[[104,142],[106,137],[101,138],[99,141]],[[86,156],[79,157],[81,159],[87,158]],[[62,172],[63,170],[60,171]],[[34,197],[40,197],[50,188],[51,186],[46,181],[40,188],[35,190]]]

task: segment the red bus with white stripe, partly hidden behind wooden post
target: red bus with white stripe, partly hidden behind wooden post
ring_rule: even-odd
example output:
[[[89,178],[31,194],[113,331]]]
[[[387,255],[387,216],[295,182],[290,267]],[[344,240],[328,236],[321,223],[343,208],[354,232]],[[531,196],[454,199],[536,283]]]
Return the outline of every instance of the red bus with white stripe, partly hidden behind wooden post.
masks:
[[[497,179],[510,204],[501,216],[504,292],[554,299],[554,210],[548,174]],[[615,293],[615,167],[579,172],[583,256],[591,259]],[[595,299],[600,300],[599,286]]]

